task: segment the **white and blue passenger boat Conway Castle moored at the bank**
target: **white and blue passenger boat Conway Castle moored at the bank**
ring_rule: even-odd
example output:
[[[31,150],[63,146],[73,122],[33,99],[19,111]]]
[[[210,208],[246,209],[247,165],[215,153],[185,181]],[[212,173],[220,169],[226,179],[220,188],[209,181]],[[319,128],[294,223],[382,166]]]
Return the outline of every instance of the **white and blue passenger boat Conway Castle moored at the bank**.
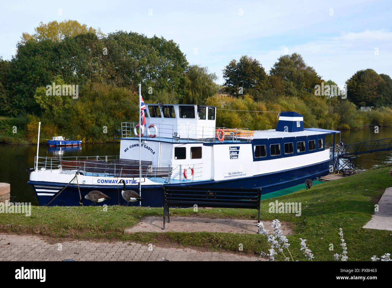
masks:
[[[146,106],[141,145],[138,125],[122,123],[118,156],[36,158],[28,183],[40,205],[79,205],[91,190],[111,197],[98,205],[127,205],[121,179],[141,194],[137,204],[151,207],[163,206],[162,185],[261,188],[266,194],[325,176],[332,167],[325,136],[339,131],[304,129],[296,112],[281,112],[276,129],[227,132],[216,129],[216,107]]]

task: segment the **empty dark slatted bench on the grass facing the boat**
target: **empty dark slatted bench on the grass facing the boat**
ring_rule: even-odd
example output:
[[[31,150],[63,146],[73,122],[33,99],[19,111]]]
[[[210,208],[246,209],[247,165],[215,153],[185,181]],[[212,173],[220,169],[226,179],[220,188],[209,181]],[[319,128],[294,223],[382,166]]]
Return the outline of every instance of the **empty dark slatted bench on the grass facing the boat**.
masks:
[[[217,208],[245,208],[258,210],[260,223],[261,188],[215,188],[162,185],[163,191],[163,228],[167,214],[170,223],[169,206]]]

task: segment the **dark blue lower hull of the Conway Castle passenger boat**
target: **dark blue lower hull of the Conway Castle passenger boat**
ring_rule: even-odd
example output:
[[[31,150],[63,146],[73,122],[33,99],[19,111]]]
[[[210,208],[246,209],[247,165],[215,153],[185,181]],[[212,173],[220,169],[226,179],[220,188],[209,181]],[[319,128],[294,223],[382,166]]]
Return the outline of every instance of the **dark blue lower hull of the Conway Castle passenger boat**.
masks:
[[[170,186],[181,186],[181,187],[230,187],[230,188],[261,188],[261,194],[267,194],[284,188],[292,187],[304,183],[306,179],[316,179],[325,176],[329,173],[330,164],[332,159],[316,163],[313,165],[297,167],[289,170],[282,170],[278,172],[272,172],[262,175],[255,175],[246,178],[237,178],[222,181],[198,181],[193,183],[172,183],[166,184]],[[54,197],[56,197],[48,206],[79,206],[80,196],[78,185],[69,184],[58,195],[58,193],[67,185],[67,183],[55,183],[46,181],[29,181],[28,184],[33,185],[34,192],[37,195],[40,205],[46,205]],[[305,188],[305,184],[304,184]],[[84,197],[87,193],[92,190],[100,190],[107,196],[111,197],[109,200],[105,200],[96,205],[127,205],[127,202],[121,196],[122,186],[120,185],[79,185],[80,194]],[[138,184],[127,185],[126,189],[134,190],[138,192]],[[58,195],[58,196],[57,196]],[[162,185],[142,185],[141,196],[143,201],[133,203],[134,206],[150,206],[150,207],[162,207],[163,206],[163,194]],[[91,206],[93,202],[87,199],[83,199],[83,205]],[[131,203],[129,203],[131,205]]]

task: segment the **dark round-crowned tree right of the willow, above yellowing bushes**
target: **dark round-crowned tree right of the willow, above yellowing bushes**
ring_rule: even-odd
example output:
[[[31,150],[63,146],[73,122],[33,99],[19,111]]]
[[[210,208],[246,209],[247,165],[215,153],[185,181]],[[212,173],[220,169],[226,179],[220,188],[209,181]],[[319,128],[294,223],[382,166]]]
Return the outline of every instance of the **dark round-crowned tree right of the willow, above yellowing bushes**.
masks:
[[[255,99],[261,98],[266,91],[268,81],[263,66],[256,59],[241,56],[240,61],[233,59],[223,69],[226,91],[232,95],[250,94]]]

